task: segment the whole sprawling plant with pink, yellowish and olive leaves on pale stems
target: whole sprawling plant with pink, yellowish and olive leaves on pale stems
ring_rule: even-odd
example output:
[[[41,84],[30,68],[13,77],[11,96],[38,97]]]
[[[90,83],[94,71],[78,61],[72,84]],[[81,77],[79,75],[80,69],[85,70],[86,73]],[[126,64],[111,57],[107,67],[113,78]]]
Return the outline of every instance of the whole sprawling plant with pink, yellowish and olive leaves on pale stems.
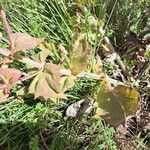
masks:
[[[0,11],[0,17],[7,33],[8,44],[7,48],[0,48],[1,102],[8,99],[11,88],[28,79],[30,83],[27,93],[32,94],[34,99],[50,99],[54,102],[67,99],[66,92],[75,85],[76,79],[87,75],[98,81],[104,80],[105,83],[100,82],[95,92],[97,115],[116,126],[124,123],[127,116],[136,112],[139,93],[128,85],[110,84],[102,69],[101,60],[95,58],[95,55],[93,57],[93,50],[85,33],[77,31],[71,48],[66,50],[63,43],[56,46],[54,43],[45,42],[43,38],[35,38],[27,33],[13,33],[3,10]],[[105,43],[109,51],[112,46],[106,37]],[[39,51],[32,55],[29,50],[37,46]],[[25,64],[28,71],[23,72],[21,68],[10,67],[16,60]]]

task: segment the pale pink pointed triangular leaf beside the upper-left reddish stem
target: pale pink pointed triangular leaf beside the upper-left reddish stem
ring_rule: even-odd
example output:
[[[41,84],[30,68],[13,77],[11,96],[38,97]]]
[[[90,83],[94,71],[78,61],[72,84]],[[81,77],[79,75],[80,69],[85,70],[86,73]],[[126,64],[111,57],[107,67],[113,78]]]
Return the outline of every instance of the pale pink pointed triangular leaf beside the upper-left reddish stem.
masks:
[[[13,53],[17,51],[25,51],[30,48],[35,48],[43,42],[43,38],[35,38],[27,33],[13,33]]]

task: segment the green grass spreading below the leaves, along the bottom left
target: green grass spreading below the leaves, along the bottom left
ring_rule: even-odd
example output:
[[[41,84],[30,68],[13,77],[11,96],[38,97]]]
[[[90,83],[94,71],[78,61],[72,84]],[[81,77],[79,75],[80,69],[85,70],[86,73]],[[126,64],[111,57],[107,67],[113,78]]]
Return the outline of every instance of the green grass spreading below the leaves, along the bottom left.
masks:
[[[94,80],[78,80],[66,102],[11,101],[0,105],[1,149],[112,149],[114,129],[93,116],[66,119],[65,110],[72,102],[94,88]]]

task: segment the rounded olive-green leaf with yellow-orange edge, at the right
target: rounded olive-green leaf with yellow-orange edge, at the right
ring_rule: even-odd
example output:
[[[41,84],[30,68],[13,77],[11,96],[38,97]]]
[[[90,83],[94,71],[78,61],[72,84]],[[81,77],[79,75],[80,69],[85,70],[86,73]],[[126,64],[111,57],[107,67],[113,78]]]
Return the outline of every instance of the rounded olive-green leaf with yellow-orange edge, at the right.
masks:
[[[140,95],[134,88],[125,85],[111,87],[103,81],[97,94],[97,113],[116,126],[125,123],[126,117],[138,110],[139,99]]]

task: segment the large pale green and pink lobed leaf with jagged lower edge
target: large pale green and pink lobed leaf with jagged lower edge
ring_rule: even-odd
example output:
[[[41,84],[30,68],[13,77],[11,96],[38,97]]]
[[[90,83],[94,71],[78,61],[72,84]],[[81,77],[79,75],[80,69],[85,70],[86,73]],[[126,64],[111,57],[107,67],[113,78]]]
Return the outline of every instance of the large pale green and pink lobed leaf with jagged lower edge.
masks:
[[[63,75],[59,65],[47,63],[44,70],[33,79],[29,93],[33,93],[35,99],[67,99],[64,92],[74,85],[74,80],[72,76]]]

